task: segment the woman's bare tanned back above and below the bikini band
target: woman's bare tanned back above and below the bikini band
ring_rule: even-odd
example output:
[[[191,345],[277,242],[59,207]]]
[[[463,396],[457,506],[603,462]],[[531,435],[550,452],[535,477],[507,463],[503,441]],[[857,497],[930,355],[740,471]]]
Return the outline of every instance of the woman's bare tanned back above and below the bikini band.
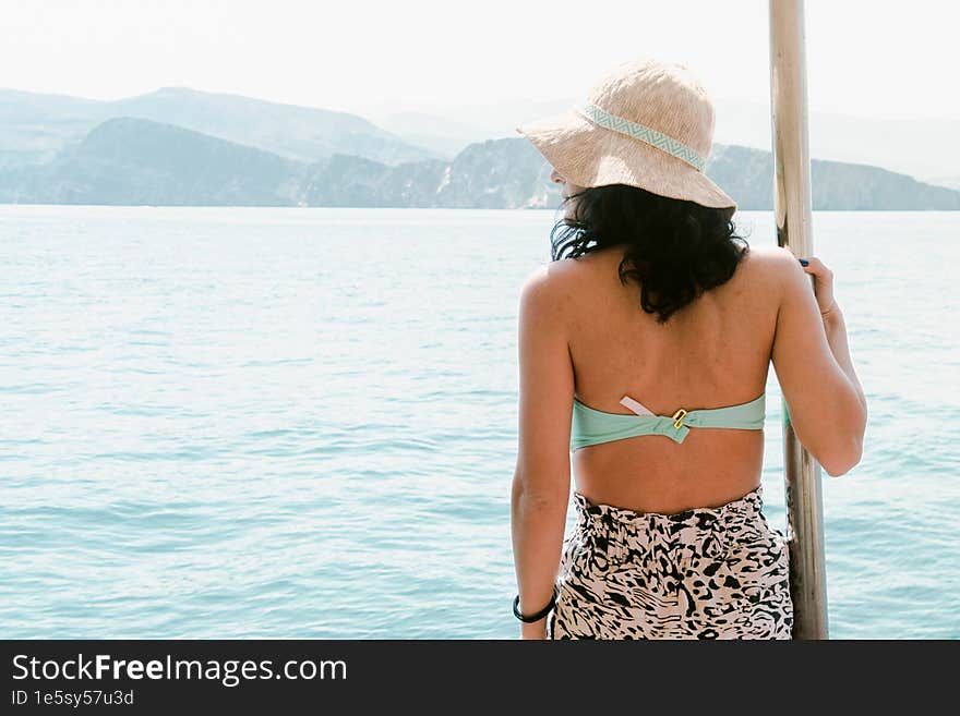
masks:
[[[632,414],[627,395],[658,415],[748,402],[764,392],[777,327],[771,248],[751,247],[733,277],[658,325],[622,284],[621,247],[566,260],[563,280],[575,395]],[[576,489],[595,503],[680,512],[737,499],[760,482],[764,433],[696,428],[677,444],[645,435],[573,453]]]

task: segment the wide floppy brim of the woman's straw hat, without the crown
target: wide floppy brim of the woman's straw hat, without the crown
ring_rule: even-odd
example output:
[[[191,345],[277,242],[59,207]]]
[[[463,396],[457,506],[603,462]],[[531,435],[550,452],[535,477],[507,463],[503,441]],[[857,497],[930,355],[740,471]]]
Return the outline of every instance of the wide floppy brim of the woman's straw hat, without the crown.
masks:
[[[709,208],[736,209],[707,174],[646,142],[593,124],[576,110],[516,128],[554,169],[578,186],[628,184]]]

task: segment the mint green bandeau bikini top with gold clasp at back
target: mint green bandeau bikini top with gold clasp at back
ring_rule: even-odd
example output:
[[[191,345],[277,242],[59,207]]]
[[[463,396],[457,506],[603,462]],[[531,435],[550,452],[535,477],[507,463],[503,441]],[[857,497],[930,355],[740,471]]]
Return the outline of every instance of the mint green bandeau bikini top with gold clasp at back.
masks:
[[[608,413],[590,408],[574,397],[574,414],[571,424],[571,450],[588,445],[622,440],[637,435],[663,435],[675,442],[683,442],[691,427],[732,427],[740,430],[758,430],[764,427],[766,416],[766,392],[748,403],[684,410],[673,415],[656,415],[629,396],[620,403],[629,408],[635,415]]]

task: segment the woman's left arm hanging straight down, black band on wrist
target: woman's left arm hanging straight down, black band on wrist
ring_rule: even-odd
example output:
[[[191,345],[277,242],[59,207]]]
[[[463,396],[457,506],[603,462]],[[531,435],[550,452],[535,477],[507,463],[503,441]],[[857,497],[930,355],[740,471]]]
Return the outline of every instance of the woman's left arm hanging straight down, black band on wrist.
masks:
[[[518,449],[511,527],[524,615],[539,611],[553,596],[569,503],[574,369],[563,294],[550,280],[552,266],[527,280],[519,301]],[[544,639],[547,617],[521,622],[521,636]]]

